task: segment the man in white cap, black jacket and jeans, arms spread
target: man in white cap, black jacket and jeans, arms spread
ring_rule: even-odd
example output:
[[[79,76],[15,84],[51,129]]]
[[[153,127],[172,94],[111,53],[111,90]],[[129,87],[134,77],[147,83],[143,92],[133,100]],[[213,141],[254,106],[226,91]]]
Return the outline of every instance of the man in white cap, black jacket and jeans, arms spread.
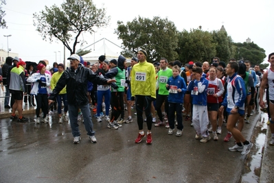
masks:
[[[67,85],[67,102],[69,108],[69,120],[71,123],[71,131],[73,134],[73,143],[80,143],[80,131],[78,125],[78,108],[81,109],[84,117],[84,127],[91,139],[91,143],[96,143],[95,132],[93,131],[93,123],[91,121],[91,111],[89,110],[89,99],[87,97],[87,82],[96,84],[110,84],[115,80],[107,80],[101,78],[95,73],[80,64],[80,56],[72,54],[67,60],[70,61],[70,69],[62,73],[56,87],[49,96],[49,104],[54,102],[54,98],[60,93],[62,88]]]

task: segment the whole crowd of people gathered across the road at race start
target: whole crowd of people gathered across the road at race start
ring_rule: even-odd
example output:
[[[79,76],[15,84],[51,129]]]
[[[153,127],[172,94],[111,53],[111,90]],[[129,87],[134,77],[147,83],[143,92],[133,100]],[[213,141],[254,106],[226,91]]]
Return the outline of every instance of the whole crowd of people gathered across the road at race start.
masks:
[[[45,60],[27,65],[20,58],[8,57],[2,66],[3,86],[8,91],[5,108],[11,106],[10,119],[19,122],[28,120],[22,116],[23,100],[25,105],[36,106],[36,123],[48,123],[49,114],[58,112],[58,123],[70,121],[76,144],[81,140],[78,121],[82,119],[91,142],[97,142],[91,111],[96,112],[98,123],[106,121],[107,127],[117,130],[123,123],[133,122],[132,109],[135,108],[139,127],[135,143],[141,143],[147,136],[147,144],[152,143],[153,123],[155,127],[166,127],[170,135],[176,127],[176,136],[181,136],[183,125],[190,121],[196,132],[194,138],[207,143],[212,138],[219,140],[225,122],[227,135],[223,141],[230,141],[232,136],[236,141],[229,151],[241,151],[245,155],[253,143],[247,141],[241,131],[244,123],[251,122],[250,116],[259,114],[261,106],[261,110],[269,114],[272,132],[269,144],[274,145],[271,121],[274,53],[269,55],[271,66],[265,73],[259,65],[251,68],[249,60],[232,58],[226,64],[215,57],[210,64],[190,61],[183,65],[179,60],[168,62],[166,58],[149,63],[147,56],[141,49],[127,66],[124,56],[110,61],[100,56],[98,62],[91,65],[73,54],[68,58],[69,68],[54,62],[49,71]],[[265,88],[268,88],[266,100]],[[124,112],[128,112],[127,119]]]

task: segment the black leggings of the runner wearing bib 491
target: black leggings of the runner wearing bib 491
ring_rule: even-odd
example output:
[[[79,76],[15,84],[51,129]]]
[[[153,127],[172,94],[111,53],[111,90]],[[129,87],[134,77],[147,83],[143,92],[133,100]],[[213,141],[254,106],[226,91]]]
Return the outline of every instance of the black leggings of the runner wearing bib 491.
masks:
[[[148,126],[148,130],[151,130],[152,127],[152,115],[150,112],[152,99],[150,96],[136,95],[135,96],[135,106],[137,112],[137,123],[139,130],[143,130],[143,110],[145,110],[146,114],[146,125]]]

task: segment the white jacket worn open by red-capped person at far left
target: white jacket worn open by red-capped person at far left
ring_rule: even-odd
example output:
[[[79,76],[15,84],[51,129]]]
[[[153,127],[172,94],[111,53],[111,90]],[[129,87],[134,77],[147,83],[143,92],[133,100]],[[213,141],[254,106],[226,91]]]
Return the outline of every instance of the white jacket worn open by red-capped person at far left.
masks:
[[[38,93],[38,82],[37,80],[40,80],[41,74],[40,73],[34,73],[29,78],[27,78],[27,82],[33,83],[32,90],[30,90],[31,95],[37,95]],[[50,81],[52,80],[52,76],[48,73],[45,73],[46,83],[47,83],[47,94],[52,93],[52,90],[50,89]]]

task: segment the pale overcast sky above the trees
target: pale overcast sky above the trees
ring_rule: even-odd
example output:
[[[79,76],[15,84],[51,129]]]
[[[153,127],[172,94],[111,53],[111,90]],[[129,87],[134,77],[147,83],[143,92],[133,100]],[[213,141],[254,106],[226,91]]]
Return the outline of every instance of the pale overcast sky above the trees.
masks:
[[[50,7],[54,3],[60,5],[62,2],[63,0],[7,0],[7,4],[3,5],[3,10],[6,13],[4,19],[8,29],[0,29],[1,49],[8,49],[7,38],[3,35],[12,35],[8,38],[9,48],[12,49],[11,52],[19,53],[19,57],[23,60],[38,62],[38,60],[47,59],[50,65],[55,60],[62,62],[63,45],[60,42],[49,43],[43,40],[36,32],[36,27],[33,26],[32,16],[34,12],[45,10],[45,5]],[[203,30],[211,32],[224,25],[233,42],[244,42],[247,38],[251,38],[251,41],[266,51],[266,56],[274,52],[273,0],[94,0],[93,2],[97,8],[106,8],[106,14],[111,16],[111,22],[108,27],[99,29],[95,36],[84,34],[84,40],[89,42],[87,45],[101,38],[107,38],[121,45],[121,40],[117,40],[117,35],[114,34],[117,21],[126,23],[133,21],[137,16],[148,19],[160,16],[174,22],[179,31],[183,29],[189,31],[201,25]],[[95,49],[97,47],[95,45]],[[69,51],[66,51],[66,58],[68,56]],[[265,62],[266,60],[267,58]]]

